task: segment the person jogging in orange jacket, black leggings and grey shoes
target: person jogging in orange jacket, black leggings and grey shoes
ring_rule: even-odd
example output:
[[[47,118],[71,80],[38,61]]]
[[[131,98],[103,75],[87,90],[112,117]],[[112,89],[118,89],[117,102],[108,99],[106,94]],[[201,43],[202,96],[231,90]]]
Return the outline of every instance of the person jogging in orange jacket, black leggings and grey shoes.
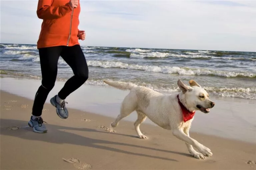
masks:
[[[67,80],[50,103],[56,107],[57,115],[68,118],[66,97],[77,90],[88,79],[88,66],[78,40],[85,39],[85,31],[79,30],[79,0],[39,0],[37,16],[43,19],[37,41],[42,72],[42,84],[36,92],[32,116],[28,125],[34,132],[46,133],[47,128],[41,117],[49,92],[57,77],[57,65],[61,56],[72,68],[73,77]]]

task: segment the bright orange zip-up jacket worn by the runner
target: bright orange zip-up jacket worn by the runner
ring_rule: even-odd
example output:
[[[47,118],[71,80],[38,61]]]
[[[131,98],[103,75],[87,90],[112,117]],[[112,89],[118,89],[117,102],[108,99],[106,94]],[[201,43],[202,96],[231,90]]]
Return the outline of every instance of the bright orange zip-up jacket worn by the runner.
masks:
[[[79,1],[72,9],[69,0],[39,0],[36,13],[43,19],[37,48],[79,44]]]

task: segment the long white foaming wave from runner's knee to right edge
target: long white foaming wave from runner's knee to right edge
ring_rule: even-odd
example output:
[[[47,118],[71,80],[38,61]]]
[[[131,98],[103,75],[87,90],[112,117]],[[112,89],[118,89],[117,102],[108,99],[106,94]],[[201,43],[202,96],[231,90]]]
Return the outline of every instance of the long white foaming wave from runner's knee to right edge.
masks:
[[[160,73],[176,73],[179,75],[212,75],[221,77],[252,77],[256,78],[256,74],[247,72],[230,72],[219,70],[207,70],[207,69],[192,69],[181,67],[168,67],[168,66],[148,66],[137,64],[126,64],[115,61],[87,61],[88,66],[103,67],[103,68],[123,68],[133,70],[143,70]]]

